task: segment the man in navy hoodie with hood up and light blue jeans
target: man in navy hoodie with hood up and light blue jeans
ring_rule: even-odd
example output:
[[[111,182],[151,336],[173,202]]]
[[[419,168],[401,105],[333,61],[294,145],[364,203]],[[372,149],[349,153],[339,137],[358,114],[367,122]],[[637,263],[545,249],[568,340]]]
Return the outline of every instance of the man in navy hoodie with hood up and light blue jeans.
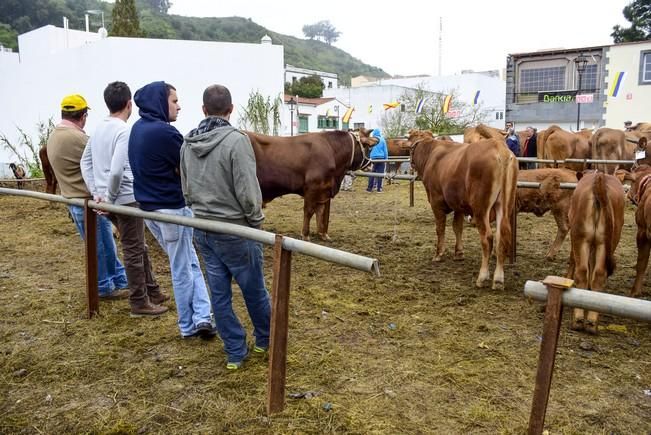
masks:
[[[183,136],[170,125],[181,110],[176,89],[153,82],[138,89],[134,101],[140,119],[129,136],[129,163],[136,201],[145,211],[191,217],[179,175]],[[210,318],[210,299],[192,244],[192,228],[151,220],[145,223],[170,260],[181,335],[213,338],[216,331]]]

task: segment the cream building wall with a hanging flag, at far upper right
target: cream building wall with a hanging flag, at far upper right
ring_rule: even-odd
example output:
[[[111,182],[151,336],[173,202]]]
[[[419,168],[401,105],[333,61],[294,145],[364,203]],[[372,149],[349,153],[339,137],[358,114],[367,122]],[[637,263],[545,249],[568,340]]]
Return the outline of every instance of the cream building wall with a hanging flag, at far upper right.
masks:
[[[651,121],[651,85],[639,84],[640,52],[651,50],[651,42],[620,44],[608,48],[606,57],[606,86],[608,95],[615,75],[625,71],[617,97],[607,97],[604,120],[606,127],[622,129],[625,121]]]

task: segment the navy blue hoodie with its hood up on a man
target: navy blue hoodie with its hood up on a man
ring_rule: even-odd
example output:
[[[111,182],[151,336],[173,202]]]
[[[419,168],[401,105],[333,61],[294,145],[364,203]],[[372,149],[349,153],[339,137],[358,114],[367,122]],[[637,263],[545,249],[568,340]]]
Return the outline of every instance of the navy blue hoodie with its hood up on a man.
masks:
[[[169,123],[165,82],[153,82],[136,91],[140,119],[129,136],[129,164],[133,191],[146,211],[185,207],[179,163],[183,136]]]

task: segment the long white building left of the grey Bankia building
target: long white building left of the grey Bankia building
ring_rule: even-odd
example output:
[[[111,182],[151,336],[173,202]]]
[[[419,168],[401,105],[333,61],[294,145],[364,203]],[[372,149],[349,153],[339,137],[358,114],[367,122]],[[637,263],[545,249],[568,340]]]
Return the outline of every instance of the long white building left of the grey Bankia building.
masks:
[[[487,114],[486,124],[491,127],[504,128],[505,82],[497,73],[463,72],[457,75],[441,77],[407,77],[383,79],[375,82],[360,82],[351,88],[325,89],[324,96],[337,97],[344,103],[355,107],[351,125],[356,127],[379,127],[383,105],[400,102],[405,93],[413,93],[416,88],[423,88],[433,94],[448,95],[454,91],[457,101],[467,106],[475,103]],[[452,102],[454,106],[454,100]],[[389,110],[413,110],[399,106]]]

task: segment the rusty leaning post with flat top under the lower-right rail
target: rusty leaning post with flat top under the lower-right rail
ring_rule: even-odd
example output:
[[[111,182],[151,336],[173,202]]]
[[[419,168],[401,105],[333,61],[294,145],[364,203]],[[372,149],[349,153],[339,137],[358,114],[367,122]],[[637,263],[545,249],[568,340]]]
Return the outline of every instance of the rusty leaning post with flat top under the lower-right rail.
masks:
[[[548,276],[543,281],[543,284],[545,284],[548,291],[547,307],[545,309],[542,343],[540,344],[540,355],[538,357],[536,387],[533,392],[531,416],[529,417],[529,435],[540,435],[543,431],[549,389],[552,384],[552,374],[554,373],[554,361],[556,360],[558,333],[563,320],[563,291],[572,287],[574,281],[559,276]]]

